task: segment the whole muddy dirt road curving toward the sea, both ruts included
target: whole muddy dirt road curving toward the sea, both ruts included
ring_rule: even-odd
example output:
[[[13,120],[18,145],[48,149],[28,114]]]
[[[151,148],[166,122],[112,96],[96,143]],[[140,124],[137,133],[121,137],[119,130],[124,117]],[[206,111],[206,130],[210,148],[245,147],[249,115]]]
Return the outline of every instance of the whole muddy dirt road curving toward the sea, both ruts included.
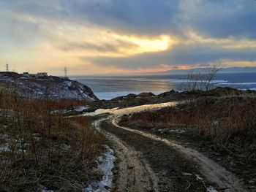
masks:
[[[112,191],[246,191],[232,173],[196,150],[143,131],[118,126],[122,115],[157,110],[177,103],[143,105],[126,109],[98,110],[86,115],[108,112],[94,121],[116,153],[118,161]]]

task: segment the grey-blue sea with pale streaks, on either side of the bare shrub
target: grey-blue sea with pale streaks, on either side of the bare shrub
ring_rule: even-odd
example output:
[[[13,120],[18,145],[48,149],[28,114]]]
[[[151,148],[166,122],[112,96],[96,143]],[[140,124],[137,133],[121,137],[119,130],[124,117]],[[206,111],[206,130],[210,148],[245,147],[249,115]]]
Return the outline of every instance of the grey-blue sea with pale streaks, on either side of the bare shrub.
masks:
[[[165,91],[187,91],[187,74],[153,74],[134,76],[104,76],[86,77],[74,76],[72,80],[82,82],[91,88],[99,99],[113,99],[129,93],[152,92],[154,94]],[[256,90],[256,73],[221,73],[211,82],[211,88],[231,87],[240,90]]]

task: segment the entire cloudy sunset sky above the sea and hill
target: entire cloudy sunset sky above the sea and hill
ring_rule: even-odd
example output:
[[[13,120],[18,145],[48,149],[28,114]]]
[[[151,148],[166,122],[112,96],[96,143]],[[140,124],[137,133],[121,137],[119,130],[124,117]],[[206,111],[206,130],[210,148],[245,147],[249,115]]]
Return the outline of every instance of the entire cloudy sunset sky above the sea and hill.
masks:
[[[0,70],[136,74],[256,66],[255,0],[0,0]]]

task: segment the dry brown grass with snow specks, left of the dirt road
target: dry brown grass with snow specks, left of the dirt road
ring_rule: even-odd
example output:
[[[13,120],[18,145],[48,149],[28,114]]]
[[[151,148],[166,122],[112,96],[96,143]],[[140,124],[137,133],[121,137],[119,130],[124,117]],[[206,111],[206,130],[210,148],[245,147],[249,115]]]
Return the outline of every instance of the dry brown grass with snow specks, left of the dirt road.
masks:
[[[88,118],[50,114],[65,104],[78,103],[0,91],[1,191],[81,191],[94,177],[92,165],[104,137],[91,129]]]

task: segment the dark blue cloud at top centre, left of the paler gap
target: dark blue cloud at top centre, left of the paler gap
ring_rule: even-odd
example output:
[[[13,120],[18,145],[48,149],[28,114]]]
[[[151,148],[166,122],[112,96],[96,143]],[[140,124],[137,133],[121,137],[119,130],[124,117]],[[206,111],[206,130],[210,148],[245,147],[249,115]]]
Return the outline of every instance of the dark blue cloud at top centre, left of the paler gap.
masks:
[[[170,31],[178,0],[62,1],[69,14],[92,23],[135,34]]]

